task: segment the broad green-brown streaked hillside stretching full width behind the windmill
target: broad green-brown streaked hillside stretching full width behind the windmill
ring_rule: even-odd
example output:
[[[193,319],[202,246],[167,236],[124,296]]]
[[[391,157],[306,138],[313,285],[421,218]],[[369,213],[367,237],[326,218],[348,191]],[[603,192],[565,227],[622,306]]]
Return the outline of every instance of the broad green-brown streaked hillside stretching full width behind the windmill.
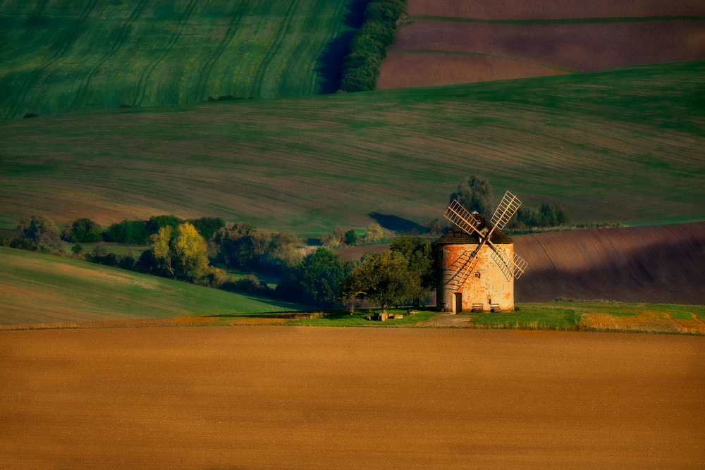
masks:
[[[577,223],[702,220],[704,86],[699,61],[14,120],[0,124],[0,222],[425,225],[472,173]]]

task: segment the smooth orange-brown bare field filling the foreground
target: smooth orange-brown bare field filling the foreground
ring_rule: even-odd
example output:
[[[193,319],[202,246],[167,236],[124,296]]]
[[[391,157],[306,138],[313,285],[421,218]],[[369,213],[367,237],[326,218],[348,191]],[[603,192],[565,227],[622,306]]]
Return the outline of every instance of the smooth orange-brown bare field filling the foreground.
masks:
[[[305,327],[0,332],[4,469],[694,469],[705,342]]]

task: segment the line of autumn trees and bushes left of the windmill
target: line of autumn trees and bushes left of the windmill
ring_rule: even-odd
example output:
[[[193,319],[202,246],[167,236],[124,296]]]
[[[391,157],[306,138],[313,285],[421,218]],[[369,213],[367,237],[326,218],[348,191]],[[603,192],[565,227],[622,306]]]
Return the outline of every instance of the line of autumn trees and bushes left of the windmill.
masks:
[[[407,301],[419,305],[434,289],[431,243],[420,238],[398,237],[389,250],[367,254],[360,261],[341,261],[328,247],[305,254],[296,247],[298,239],[289,232],[259,232],[245,222],[230,223],[213,232],[219,221],[197,220],[212,223],[202,224],[199,229],[191,221],[175,216],[155,216],[146,221],[147,229],[145,223],[133,224],[135,221],[111,225],[111,228],[137,225],[140,230],[156,228],[156,233],[147,238],[149,249],[138,257],[108,252],[99,243],[105,239],[104,232],[87,218],[77,219],[61,233],[47,216],[32,214],[18,222],[17,237],[9,243],[1,241],[2,245],[14,248],[66,256],[61,244],[63,238],[75,242],[73,256],[85,261],[321,307],[340,307],[354,299],[366,299],[383,309]],[[207,240],[204,233],[209,232],[212,235]],[[369,240],[377,235],[379,232],[372,230]],[[92,252],[83,253],[79,241],[97,245]],[[235,280],[227,276],[228,269],[273,273],[281,281],[272,289],[253,275]]]

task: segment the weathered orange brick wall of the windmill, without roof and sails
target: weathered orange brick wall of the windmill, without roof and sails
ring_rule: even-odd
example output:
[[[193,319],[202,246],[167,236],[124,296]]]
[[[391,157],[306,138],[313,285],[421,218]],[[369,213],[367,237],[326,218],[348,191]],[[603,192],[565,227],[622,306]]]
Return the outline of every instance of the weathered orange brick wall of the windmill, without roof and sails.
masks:
[[[497,245],[513,256],[514,245]],[[482,304],[489,311],[491,304],[499,304],[502,311],[514,309],[514,280],[508,280],[501,268],[492,259],[492,249],[485,245],[479,254],[477,266],[460,287],[451,284],[458,269],[454,263],[465,250],[474,250],[477,245],[441,245],[439,247],[439,283],[436,304],[445,304],[446,311],[455,313],[455,293],[462,296],[462,311],[470,311],[473,304]],[[510,257],[511,259],[511,257]],[[479,273],[479,278],[475,276]]]

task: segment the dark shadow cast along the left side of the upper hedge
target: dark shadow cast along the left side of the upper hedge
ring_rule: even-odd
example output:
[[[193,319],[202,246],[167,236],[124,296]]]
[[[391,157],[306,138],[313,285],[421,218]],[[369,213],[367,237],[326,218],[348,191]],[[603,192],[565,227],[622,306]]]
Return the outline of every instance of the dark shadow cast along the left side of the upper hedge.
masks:
[[[323,53],[317,58],[316,72],[321,76],[318,94],[335,93],[341,84],[341,66],[343,56],[348,52],[348,45],[353,40],[355,32],[362,26],[364,7],[367,0],[350,0],[345,5],[348,13],[345,14],[343,24],[352,27],[353,30],[341,32],[326,44]]]

